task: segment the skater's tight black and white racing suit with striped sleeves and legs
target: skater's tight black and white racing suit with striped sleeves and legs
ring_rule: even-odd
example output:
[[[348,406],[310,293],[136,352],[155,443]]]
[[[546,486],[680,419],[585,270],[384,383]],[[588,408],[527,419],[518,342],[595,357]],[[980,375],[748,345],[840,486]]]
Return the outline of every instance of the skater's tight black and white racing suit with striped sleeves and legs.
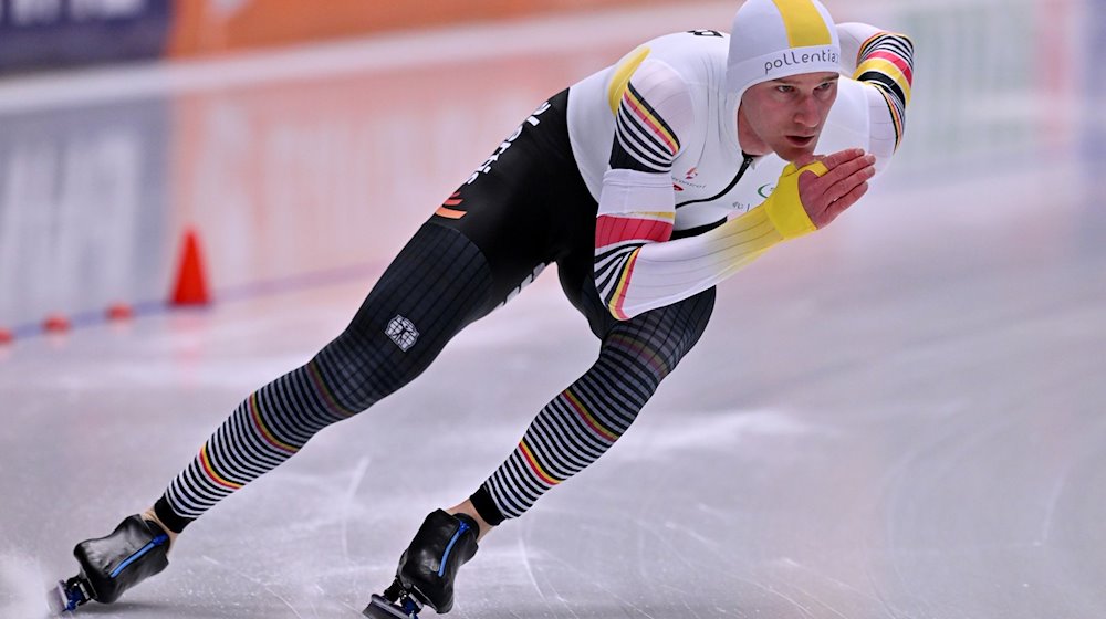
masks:
[[[818,153],[860,147],[883,169],[902,136],[908,39],[838,27],[848,63]],[[517,517],[598,459],[702,334],[713,286],[784,239],[761,204],[785,162],[748,157],[726,93],[728,35],[675,33],[553,96],[446,199],[349,326],[251,394],[158,501],[184,528],[322,428],[418,376],[461,328],[557,265],[601,339],[472,495]],[[448,413],[448,411],[444,411]]]

